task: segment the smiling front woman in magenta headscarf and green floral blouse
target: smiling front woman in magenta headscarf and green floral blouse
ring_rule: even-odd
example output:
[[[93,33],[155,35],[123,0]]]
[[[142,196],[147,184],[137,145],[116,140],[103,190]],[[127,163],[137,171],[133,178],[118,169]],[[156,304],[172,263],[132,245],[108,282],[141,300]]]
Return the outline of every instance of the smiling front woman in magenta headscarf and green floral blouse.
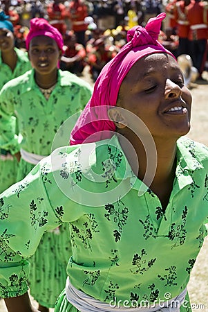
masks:
[[[72,256],[55,312],[191,311],[187,283],[207,234],[208,150],[183,137],[191,94],[157,40],[164,16],[128,32],[97,78],[71,146],[1,194],[0,295],[10,312],[15,304],[36,311],[26,257],[57,223],[69,223]],[[45,213],[38,231],[29,206]],[[15,211],[25,214],[28,250]]]

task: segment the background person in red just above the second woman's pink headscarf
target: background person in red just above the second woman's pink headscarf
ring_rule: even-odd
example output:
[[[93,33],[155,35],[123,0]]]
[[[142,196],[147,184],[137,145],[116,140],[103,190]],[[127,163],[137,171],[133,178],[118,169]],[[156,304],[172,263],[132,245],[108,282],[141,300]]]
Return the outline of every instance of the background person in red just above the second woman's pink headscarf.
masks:
[[[47,6],[48,21],[50,25],[57,28],[59,33],[64,35],[66,33],[66,22],[67,17],[66,6],[60,0],[54,0],[48,3]]]

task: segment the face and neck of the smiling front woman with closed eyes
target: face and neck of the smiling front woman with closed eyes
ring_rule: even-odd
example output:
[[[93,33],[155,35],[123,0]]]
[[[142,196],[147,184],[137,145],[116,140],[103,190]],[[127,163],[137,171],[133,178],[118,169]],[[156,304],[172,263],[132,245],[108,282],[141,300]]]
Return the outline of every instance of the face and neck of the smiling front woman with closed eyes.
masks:
[[[128,127],[132,124],[132,119],[119,112],[117,107],[138,116],[151,132],[157,150],[157,164],[150,185],[144,179],[146,135],[142,135],[142,140],[135,135]],[[176,60],[160,53],[149,55],[135,63],[122,82],[117,107],[109,110],[108,114],[116,121],[117,132],[124,135],[135,149],[139,162],[138,173],[134,169],[135,164],[132,164],[129,150],[126,150],[126,157],[135,174],[158,196],[165,210],[176,172],[176,141],[190,129],[191,94],[184,85]],[[125,146],[122,148],[125,152]],[[151,160],[151,155],[149,159]]]

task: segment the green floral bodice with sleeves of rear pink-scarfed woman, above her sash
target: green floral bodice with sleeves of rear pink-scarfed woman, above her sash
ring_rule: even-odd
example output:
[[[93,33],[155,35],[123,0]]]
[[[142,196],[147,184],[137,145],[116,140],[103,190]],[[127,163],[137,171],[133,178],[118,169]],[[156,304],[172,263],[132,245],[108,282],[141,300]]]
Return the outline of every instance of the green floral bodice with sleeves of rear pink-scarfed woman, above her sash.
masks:
[[[0,147],[19,150],[14,115],[23,139],[20,147],[37,155],[49,155],[60,125],[81,111],[91,97],[91,87],[68,71],[58,71],[58,81],[48,101],[34,79],[34,70],[11,80],[0,93]],[[66,135],[68,144],[70,132]]]

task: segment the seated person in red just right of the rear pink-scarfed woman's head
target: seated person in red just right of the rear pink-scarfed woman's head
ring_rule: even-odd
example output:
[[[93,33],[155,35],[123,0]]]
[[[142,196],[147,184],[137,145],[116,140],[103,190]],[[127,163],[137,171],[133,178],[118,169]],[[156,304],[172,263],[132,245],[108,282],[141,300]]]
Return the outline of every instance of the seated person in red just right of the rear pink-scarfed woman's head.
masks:
[[[82,44],[77,43],[73,31],[68,31],[64,39],[64,54],[60,62],[60,69],[70,71],[80,76],[86,65],[86,50]]]

